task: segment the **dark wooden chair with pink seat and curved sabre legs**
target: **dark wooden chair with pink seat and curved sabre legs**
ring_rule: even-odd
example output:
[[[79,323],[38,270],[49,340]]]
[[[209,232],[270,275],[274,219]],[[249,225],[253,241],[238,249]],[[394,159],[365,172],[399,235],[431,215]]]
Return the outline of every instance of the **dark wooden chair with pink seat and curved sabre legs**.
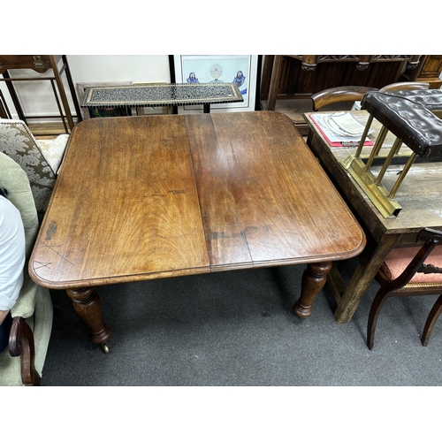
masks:
[[[422,246],[393,248],[377,272],[376,279],[381,286],[371,304],[367,324],[370,350],[375,341],[377,318],[387,298],[440,294],[423,327],[421,342],[424,347],[428,345],[431,331],[442,312],[442,232],[423,229],[417,241],[425,242]]]

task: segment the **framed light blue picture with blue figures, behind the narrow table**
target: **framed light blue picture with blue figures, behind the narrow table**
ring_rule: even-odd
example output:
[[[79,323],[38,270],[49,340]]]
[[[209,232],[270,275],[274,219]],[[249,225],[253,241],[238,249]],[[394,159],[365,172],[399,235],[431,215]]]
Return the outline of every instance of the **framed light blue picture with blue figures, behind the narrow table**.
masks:
[[[258,56],[174,55],[171,56],[173,83],[236,83],[242,103],[212,104],[211,112],[255,110]],[[179,106],[179,113],[202,112],[201,106]]]

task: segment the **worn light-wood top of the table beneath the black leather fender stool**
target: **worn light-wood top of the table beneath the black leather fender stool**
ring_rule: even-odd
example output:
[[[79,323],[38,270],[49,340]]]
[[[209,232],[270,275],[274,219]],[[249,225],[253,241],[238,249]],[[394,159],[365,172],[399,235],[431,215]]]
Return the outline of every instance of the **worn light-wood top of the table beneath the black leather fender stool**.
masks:
[[[319,112],[324,113],[324,112]],[[352,111],[354,117],[357,118],[363,126],[369,117],[365,110]],[[317,130],[315,124],[311,120],[312,113],[305,114],[305,118],[309,123],[309,145],[314,153],[320,158],[321,163],[328,169],[333,178],[339,183],[339,188],[347,193],[347,196],[356,204],[358,210],[367,224],[371,219],[372,225],[370,229],[375,235],[385,233],[401,234],[407,232],[418,232],[423,227],[431,227],[440,229],[442,227],[442,162],[426,162],[415,163],[408,171],[407,177],[404,179],[398,193],[394,197],[394,201],[399,202],[402,210],[397,217],[385,218],[376,209],[368,196],[357,185],[348,171],[344,171],[339,164],[340,161],[347,156],[354,155],[356,148],[331,148],[323,135]],[[380,130],[380,123],[374,119],[371,125],[375,132],[370,134],[371,141],[375,141]],[[395,137],[392,133],[388,133],[381,155],[387,152],[391,147]],[[313,145],[311,144],[313,142]],[[369,155],[371,147],[364,147],[362,155]],[[385,151],[385,152],[384,152]],[[410,151],[408,148],[402,148],[401,151]],[[371,166],[375,176],[380,171],[381,166]],[[403,168],[402,165],[391,165],[382,180],[383,185],[387,189],[391,189],[393,183],[398,178],[398,173]],[[350,184],[350,186],[349,186]],[[354,206],[354,207],[356,207]],[[375,224],[377,227],[375,227]],[[376,229],[376,231],[375,231]]]

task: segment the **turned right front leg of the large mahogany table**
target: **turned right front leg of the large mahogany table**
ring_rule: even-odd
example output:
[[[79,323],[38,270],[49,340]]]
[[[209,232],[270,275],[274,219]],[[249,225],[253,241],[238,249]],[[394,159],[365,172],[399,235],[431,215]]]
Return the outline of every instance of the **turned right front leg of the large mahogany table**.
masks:
[[[313,301],[324,287],[331,266],[332,263],[308,264],[307,269],[302,273],[300,299],[293,304],[293,313],[296,316],[302,319],[311,315]]]

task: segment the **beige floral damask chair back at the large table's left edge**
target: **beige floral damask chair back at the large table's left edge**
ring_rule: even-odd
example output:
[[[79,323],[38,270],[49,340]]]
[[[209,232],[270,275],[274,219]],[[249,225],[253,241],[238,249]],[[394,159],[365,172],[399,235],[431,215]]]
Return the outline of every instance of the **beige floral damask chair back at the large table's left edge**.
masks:
[[[37,211],[48,206],[56,181],[56,171],[43,155],[23,121],[0,119],[0,152],[4,152],[27,172]]]

